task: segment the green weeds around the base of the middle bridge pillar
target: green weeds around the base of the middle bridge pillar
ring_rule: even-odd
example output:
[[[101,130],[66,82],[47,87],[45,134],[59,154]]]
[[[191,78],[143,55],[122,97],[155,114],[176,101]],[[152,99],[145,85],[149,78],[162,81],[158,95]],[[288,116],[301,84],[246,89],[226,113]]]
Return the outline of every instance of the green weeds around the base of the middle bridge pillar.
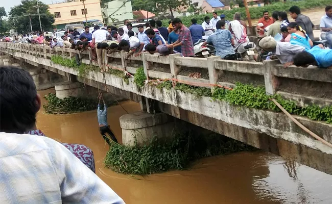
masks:
[[[53,93],[45,95],[44,98],[46,103],[43,105],[43,108],[47,114],[68,114],[97,109],[97,101],[92,98],[70,96],[60,99]],[[115,103],[107,102],[107,104],[110,106]]]

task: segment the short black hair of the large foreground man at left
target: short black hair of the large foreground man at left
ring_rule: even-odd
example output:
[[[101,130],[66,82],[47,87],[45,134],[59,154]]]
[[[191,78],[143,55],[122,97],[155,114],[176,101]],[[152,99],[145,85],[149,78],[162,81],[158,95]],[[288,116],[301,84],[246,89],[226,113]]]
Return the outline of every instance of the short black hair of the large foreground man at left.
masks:
[[[28,71],[0,67],[0,132],[23,134],[36,123],[37,90]]]

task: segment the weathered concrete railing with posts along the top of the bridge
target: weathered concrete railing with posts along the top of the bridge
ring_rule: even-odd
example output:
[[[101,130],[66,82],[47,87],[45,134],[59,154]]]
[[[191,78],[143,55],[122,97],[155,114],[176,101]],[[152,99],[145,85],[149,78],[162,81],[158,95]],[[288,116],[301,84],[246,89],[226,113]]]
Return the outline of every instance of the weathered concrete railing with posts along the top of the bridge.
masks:
[[[70,48],[61,48],[27,43],[0,42],[2,52],[22,53],[36,58],[50,59],[53,55],[73,58],[79,55],[82,63],[98,66],[89,50],[80,52]],[[150,55],[138,57],[127,53],[103,53],[105,64],[109,68],[135,73],[143,67],[147,79],[175,79],[181,83],[211,87],[219,84],[234,87],[236,82],[265,86],[270,94],[279,93],[297,101],[299,106],[317,104],[332,105],[332,69],[301,68],[291,66],[283,68],[278,60],[257,62],[221,60],[218,56],[208,58]]]

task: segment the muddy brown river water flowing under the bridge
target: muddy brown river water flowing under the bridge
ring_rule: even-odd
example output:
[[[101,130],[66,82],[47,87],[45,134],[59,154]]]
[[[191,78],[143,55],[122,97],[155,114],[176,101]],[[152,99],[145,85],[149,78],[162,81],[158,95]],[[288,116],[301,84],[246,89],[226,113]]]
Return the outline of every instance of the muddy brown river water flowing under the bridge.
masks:
[[[45,95],[54,90],[39,91]],[[44,102],[44,101],[43,101]],[[125,101],[129,113],[139,105]],[[108,108],[108,122],[121,142],[118,119],[125,110]],[[37,127],[57,141],[89,146],[96,173],[126,203],[332,203],[332,176],[267,152],[239,152],[200,159],[189,170],[128,176],[103,167],[108,150],[98,131],[96,111],[69,115],[37,114]]]

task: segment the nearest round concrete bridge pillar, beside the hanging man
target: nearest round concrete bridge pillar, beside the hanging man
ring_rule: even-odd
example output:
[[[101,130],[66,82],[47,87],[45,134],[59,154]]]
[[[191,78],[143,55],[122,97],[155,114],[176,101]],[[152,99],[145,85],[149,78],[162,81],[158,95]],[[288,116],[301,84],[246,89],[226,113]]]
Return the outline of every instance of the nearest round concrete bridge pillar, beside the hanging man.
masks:
[[[154,136],[167,140],[172,138],[175,119],[165,113],[150,114],[145,111],[126,114],[120,117],[122,143],[139,146],[148,144]]]

